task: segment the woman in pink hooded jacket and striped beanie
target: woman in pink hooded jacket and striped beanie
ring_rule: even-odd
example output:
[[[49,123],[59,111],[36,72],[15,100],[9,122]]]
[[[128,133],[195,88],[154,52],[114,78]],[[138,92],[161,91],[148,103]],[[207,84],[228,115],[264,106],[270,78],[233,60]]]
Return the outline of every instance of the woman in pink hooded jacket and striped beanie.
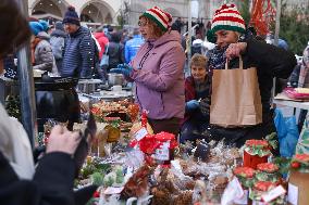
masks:
[[[153,131],[178,133],[185,112],[185,53],[181,36],[170,29],[171,14],[158,7],[139,17],[139,30],[146,42],[129,65],[119,65],[111,73],[121,73],[136,84],[136,100],[148,111]]]

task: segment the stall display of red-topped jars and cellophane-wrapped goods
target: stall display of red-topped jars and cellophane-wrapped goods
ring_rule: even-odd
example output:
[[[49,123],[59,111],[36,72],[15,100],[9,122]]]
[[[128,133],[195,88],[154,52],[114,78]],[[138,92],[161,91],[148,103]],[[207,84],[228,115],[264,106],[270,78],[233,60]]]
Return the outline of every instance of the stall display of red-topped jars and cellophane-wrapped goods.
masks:
[[[308,178],[306,155],[299,156],[300,162],[298,155],[292,162],[275,158],[275,133],[264,140],[248,140],[242,149],[224,141],[178,144],[174,134],[153,134],[147,113],[139,115],[138,106],[128,100],[101,100],[90,110],[97,120],[97,137],[75,183],[75,189],[99,187],[89,204],[307,202],[300,191],[304,183],[298,180],[299,175]],[[85,127],[85,123],[74,125],[75,130]]]

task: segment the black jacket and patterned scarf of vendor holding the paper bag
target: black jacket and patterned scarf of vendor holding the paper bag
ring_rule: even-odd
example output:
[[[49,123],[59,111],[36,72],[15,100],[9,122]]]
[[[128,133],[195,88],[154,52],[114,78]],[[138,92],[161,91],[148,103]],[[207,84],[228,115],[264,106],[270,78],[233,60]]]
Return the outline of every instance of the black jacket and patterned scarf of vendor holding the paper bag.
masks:
[[[246,42],[247,50],[242,55],[244,60],[244,68],[257,67],[261,103],[263,108],[262,124],[251,127],[237,128],[222,128],[218,126],[211,126],[210,130],[213,140],[220,141],[225,138],[226,143],[236,145],[238,148],[244,145],[246,140],[262,139],[267,134],[275,132],[273,114],[270,110],[273,77],[288,78],[296,65],[296,59],[292,52],[255,39],[248,39],[246,40]],[[222,53],[222,55],[219,56],[219,52],[217,54],[212,53],[210,52],[209,67],[211,69],[213,69],[214,67],[217,69],[224,68],[223,65],[225,61],[225,54]],[[215,59],[213,60],[211,57]],[[230,68],[236,67],[239,67],[238,57],[230,61]]]

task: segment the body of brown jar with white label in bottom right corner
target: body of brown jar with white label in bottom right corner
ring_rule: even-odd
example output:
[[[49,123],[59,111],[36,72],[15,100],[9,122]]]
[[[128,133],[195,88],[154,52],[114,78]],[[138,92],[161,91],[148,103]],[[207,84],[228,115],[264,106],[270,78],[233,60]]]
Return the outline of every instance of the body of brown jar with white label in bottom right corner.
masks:
[[[287,194],[288,204],[309,205],[309,174],[292,170],[289,174]]]

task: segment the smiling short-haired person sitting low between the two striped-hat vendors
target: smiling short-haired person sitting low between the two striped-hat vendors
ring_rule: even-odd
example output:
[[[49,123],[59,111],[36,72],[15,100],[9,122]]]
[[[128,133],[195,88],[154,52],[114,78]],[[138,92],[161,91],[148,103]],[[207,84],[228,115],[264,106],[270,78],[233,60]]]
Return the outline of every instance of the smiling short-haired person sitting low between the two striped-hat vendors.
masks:
[[[210,79],[207,67],[208,59],[194,54],[190,61],[191,75],[185,80],[186,111],[181,128],[181,142],[208,140]]]

